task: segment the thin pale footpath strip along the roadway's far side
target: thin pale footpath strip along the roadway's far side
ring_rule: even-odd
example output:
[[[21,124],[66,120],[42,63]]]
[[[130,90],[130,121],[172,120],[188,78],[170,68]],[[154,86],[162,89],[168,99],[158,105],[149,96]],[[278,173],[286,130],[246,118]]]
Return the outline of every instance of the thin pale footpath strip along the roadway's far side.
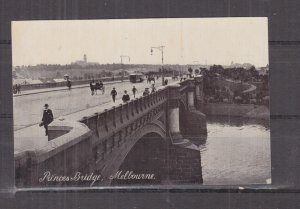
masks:
[[[124,80],[123,82],[128,82],[129,80]],[[105,85],[110,85],[114,83],[122,83],[122,81],[107,81],[103,82]],[[74,85],[72,86],[72,89],[78,89],[78,88],[87,88],[90,87],[89,84],[81,84],[81,85]],[[60,87],[53,87],[53,88],[45,88],[45,89],[32,89],[32,90],[25,90],[21,91],[21,94],[14,94],[13,97],[18,96],[24,96],[24,95],[31,95],[31,94],[40,94],[40,93],[46,93],[46,92],[52,92],[52,91],[68,91],[67,86],[60,86]]]

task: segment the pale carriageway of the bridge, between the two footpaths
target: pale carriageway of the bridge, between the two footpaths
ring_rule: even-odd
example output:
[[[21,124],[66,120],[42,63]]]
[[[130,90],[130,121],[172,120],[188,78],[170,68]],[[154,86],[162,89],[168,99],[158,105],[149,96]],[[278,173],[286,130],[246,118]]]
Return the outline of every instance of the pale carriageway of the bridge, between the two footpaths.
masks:
[[[120,82],[105,85],[105,94],[98,91],[98,95],[91,95],[89,87],[76,88],[71,91],[60,90],[39,94],[30,94],[14,97],[14,130],[38,124],[41,121],[44,104],[49,104],[54,117],[69,115],[87,108],[111,102],[110,91],[116,87],[117,97],[122,97],[124,90],[132,96],[132,86],[135,85],[138,91],[143,91],[149,87],[147,82],[132,84],[130,82]],[[161,82],[156,82],[161,85]]]

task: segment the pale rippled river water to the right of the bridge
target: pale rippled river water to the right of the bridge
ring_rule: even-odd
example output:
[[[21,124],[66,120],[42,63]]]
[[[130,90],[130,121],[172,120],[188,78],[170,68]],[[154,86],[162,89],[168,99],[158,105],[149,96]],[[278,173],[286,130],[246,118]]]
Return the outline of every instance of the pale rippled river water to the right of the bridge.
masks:
[[[271,178],[268,122],[240,117],[207,117],[200,153],[205,185],[266,184]]]

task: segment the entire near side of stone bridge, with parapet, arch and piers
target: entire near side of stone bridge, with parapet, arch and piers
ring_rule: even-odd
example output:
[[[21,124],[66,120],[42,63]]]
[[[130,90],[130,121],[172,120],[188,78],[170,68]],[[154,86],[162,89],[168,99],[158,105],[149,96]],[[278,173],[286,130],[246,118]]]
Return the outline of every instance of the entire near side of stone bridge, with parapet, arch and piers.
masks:
[[[47,146],[15,154],[16,184],[91,183],[66,180],[76,172],[101,175],[94,186],[202,183],[200,151],[189,140],[206,134],[202,104],[203,79],[195,77],[78,121],[55,120]],[[155,178],[124,180],[126,171]]]

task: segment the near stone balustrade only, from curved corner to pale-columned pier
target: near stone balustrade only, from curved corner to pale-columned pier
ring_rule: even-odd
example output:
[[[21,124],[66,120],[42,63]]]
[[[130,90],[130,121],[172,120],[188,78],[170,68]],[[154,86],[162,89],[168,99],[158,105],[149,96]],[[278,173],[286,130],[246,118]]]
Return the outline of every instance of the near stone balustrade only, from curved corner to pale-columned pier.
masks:
[[[100,143],[105,138],[120,130],[126,130],[128,135],[133,129],[141,127],[147,114],[167,101],[167,88],[133,99],[117,107],[106,109],[79,120],[94,131],[93,144]],[[155,112],[153,112],[155,114]]]

